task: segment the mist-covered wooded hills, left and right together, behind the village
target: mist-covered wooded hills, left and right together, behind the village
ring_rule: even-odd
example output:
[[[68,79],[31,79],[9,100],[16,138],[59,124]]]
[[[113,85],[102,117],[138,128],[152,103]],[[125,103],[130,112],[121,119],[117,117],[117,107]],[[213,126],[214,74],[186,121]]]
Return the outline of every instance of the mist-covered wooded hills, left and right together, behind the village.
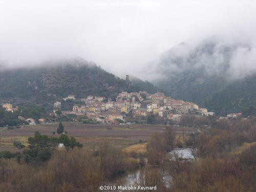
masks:
[[[46,99],[99,95],[115,98],[121,91],[158,90],[177,99],[206,107],[220,115],[256,111],[255,49],[245,41],[211,36],[200,42],[182,42],[149,63],[143,71],[151,82],[124,79],[81,58],[45,65],[0,68],[0,97]],[[143,77],[143,75],[141,75]]]

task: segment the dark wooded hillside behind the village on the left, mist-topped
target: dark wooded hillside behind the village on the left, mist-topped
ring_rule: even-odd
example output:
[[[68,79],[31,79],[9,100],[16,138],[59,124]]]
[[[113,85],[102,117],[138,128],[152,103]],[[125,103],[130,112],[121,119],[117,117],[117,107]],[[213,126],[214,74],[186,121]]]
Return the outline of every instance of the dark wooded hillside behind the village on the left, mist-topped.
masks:
[[[129,87],[125,80],[83,59],[2,70],[0,84],[1,98],[35,98],[39,103],[46,102],[53,94],[57,98],[69,94],[74,94],[77,98],[88,95],[115,98],[121,91],[155,91],[152,87],[144,89],[143,83],[141,87]]]

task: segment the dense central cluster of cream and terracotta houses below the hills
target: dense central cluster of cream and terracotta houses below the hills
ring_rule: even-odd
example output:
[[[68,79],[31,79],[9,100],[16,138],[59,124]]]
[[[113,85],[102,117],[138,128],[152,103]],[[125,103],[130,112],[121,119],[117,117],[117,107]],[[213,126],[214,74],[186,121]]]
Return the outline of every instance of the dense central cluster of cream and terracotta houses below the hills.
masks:
[[[116,97],[116,101],[104,97],[89,95],[87,98],[75,99],[74,95],[69,95],[63,100],[79,100],[83,104],[74,105],[72,111],[62,111],[65,114],[87,115],[92,121],[102,123],[118,123],[128,113],[132,113],[135,119],[143,118],[148,115],[157,115],[160,118],[179,121],[185,114],[196,116],[214,115],[205,108],[192,102],[176,100],[167,97],[164,93],[149,94],[146,91],[140,92],[121,92]],[[60,111],[61,102],[54,103],[53,112]]]

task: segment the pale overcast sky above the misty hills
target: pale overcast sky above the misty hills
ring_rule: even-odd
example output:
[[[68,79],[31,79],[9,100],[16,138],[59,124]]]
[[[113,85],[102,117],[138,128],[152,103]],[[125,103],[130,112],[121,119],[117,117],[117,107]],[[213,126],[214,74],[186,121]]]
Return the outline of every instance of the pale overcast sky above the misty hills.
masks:
[[[186,40],[255,39],[256,1],[0,0],[0,60],[80,56],[116,75]]]

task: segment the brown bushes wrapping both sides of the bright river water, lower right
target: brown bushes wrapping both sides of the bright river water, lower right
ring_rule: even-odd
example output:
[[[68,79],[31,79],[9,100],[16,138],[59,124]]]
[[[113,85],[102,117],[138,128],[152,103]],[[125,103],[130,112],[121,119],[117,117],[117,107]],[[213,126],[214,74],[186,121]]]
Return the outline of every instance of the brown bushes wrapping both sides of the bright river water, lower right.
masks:
[[[191,153],[194,152],[196,161],[182,159],[176,153],[166,157],[168,134],[165,131],[154,135],[147,145],[147,153],[148,162],[160,172],[160,175],[154,175],[161,181],[158,188],[164,185],[163,175],[172,177],[172,187],[167,189],[164,185],[160,191],[254,191],[255,120],[211,121],[211,129],[190,134],[187,145],[190,145]],[[245,142],[251,146],[249,150],[241,147]],[[145,166],[145,169],[151,167]]]

